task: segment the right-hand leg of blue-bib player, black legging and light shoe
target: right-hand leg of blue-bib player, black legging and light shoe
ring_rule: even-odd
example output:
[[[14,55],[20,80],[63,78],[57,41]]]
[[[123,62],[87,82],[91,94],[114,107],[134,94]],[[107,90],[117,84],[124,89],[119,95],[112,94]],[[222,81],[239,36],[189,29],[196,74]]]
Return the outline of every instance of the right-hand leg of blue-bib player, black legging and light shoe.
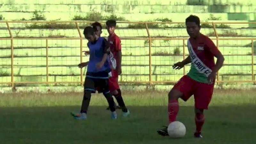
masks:
[[[108,89],[108,79],[100,79],[97,83],[101,87],[103,95],[105,96],[105,98],[108,101],[108,106],[111,111],[111,119],[116,119],[117,114],[116,114],[115,102],[112,97],[112,94],[110,93],[110,91]]]

